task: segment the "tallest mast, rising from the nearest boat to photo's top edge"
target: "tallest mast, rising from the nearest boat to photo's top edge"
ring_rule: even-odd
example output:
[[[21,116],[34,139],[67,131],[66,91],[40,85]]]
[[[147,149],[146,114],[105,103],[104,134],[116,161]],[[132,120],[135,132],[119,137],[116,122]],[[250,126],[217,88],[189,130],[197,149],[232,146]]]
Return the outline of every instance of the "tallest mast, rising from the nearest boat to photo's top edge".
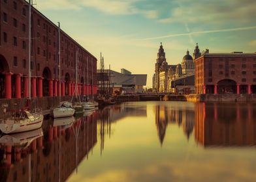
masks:
[[[29,100],[31,99],[31,0],[29,0]]]

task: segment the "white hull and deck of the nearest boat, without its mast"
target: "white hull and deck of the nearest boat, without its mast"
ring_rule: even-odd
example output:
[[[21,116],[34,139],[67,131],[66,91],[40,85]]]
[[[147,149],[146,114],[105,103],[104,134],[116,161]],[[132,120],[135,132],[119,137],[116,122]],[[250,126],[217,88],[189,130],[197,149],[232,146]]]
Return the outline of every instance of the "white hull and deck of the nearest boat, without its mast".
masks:
[[[0,129],[3,133],[19,133],[38,129],[42,126],[42,120],[44,116],[42,114],[31,114],[28,110],[24,110],[18,114],[15,114],[12,118],[2,120],[0,123]]]

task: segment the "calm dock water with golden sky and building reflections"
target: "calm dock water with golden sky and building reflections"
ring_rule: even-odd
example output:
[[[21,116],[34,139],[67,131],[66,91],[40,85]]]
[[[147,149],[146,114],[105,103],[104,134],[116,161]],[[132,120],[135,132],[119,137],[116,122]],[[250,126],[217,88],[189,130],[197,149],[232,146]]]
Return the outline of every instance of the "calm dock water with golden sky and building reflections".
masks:
[[[256,181],[256,104],[123,103],[40,132],[1,143],[1,181]]]

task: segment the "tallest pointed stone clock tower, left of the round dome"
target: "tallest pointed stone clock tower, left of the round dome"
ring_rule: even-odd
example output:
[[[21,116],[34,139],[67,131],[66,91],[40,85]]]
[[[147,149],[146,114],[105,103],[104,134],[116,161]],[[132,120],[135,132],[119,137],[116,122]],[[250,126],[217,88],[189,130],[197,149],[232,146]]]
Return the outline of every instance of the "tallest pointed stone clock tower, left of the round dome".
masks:
[[[157,62],[155,63],[155,90],[159,92],[159,73],[160,73],[160,68],[163,64],[163,62],[166,62],[165,59],[165,49],[163,49],[162,42],[160,44],[158,53],[157,53]]]

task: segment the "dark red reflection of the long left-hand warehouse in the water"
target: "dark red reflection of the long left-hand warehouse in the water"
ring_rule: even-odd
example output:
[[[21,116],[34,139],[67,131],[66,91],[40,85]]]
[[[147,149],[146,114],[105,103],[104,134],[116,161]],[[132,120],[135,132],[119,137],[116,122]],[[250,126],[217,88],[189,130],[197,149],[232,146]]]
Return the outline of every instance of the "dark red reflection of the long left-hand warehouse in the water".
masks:
[[[44,125],[43,132],[1,136],[1,181],[65,181],[97,143],[96,112]]]

